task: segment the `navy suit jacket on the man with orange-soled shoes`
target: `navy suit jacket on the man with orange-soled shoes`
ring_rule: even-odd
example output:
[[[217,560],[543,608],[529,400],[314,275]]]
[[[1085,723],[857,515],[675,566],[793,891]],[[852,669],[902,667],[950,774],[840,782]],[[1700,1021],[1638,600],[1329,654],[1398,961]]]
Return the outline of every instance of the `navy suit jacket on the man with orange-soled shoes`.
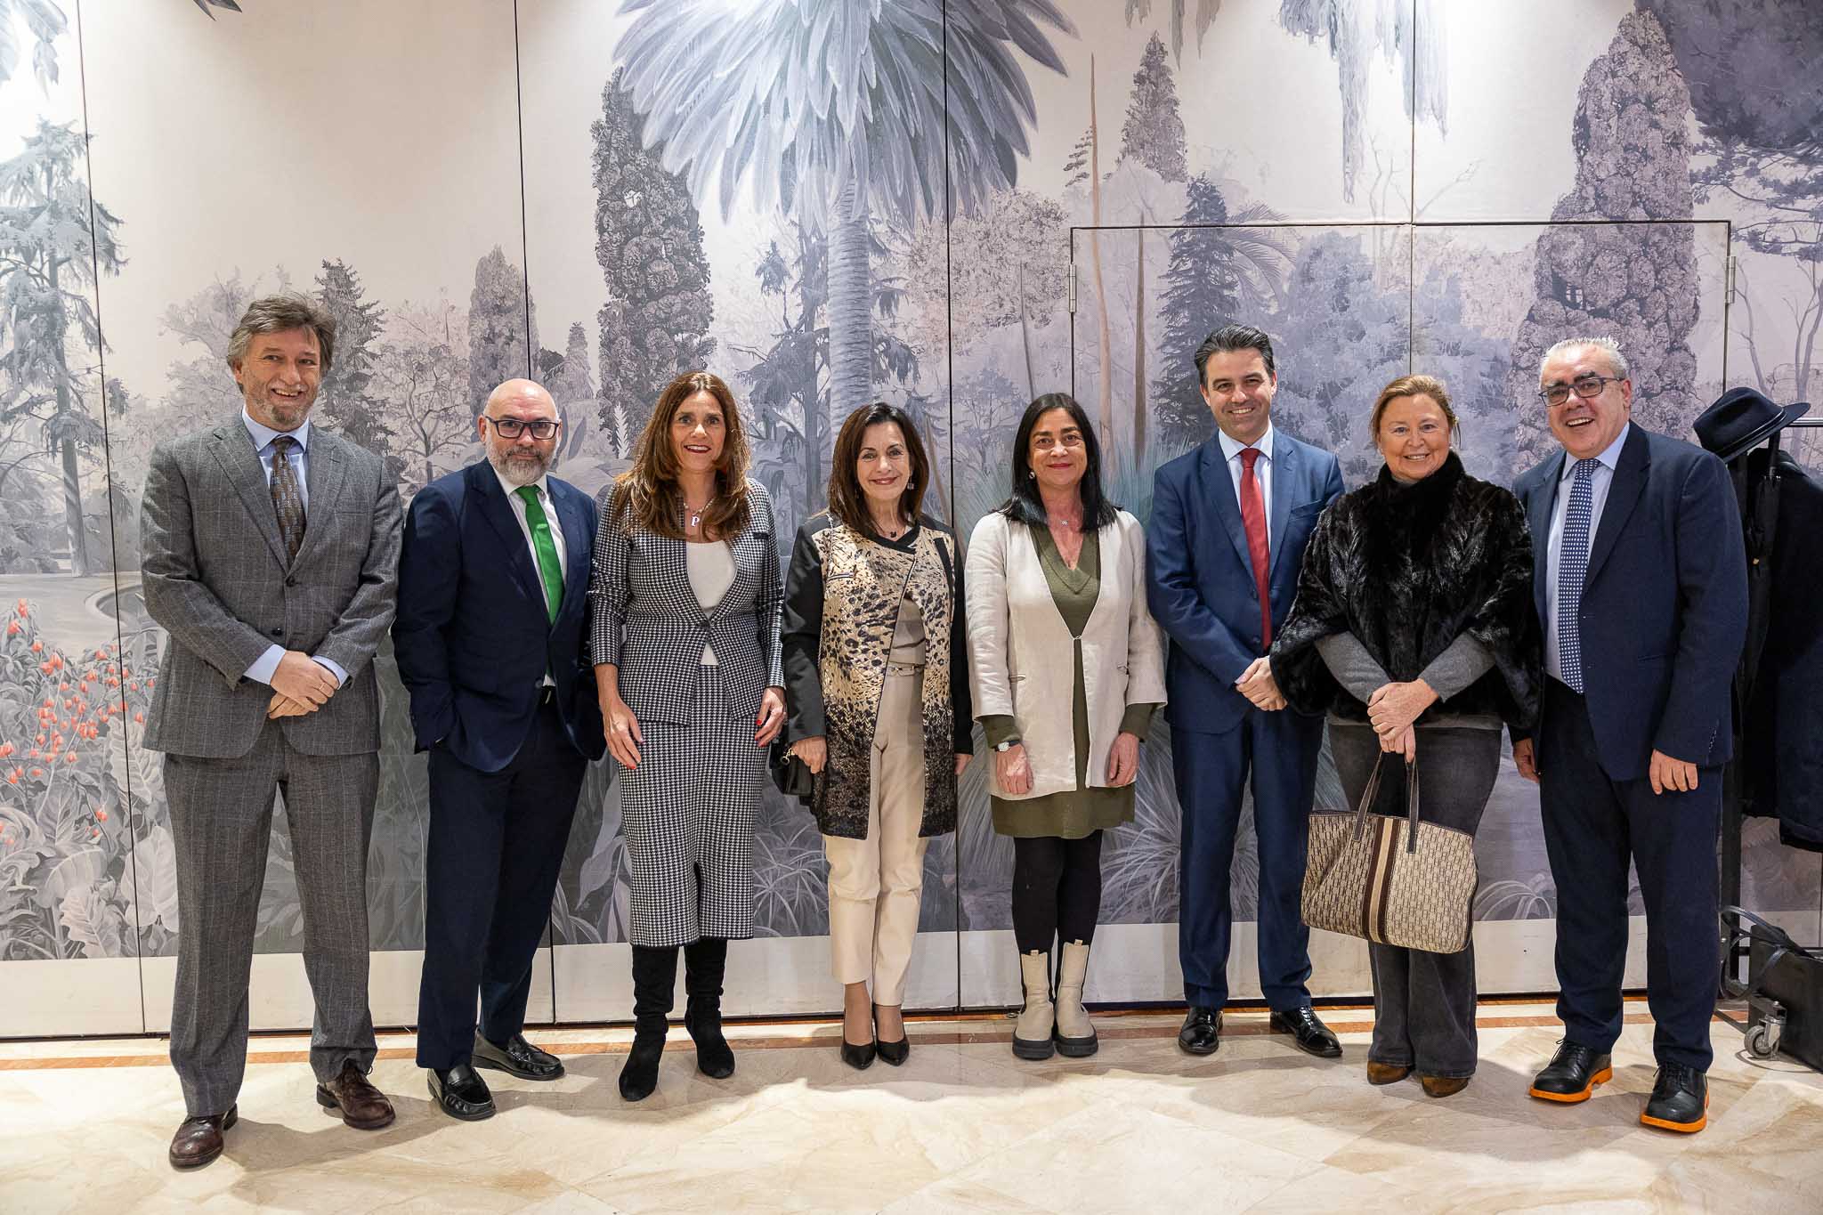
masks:
[[[1557,452],[1513,483],[1531,525],[1546,645],[1548,545],[1564,459]],[[1746,638],[1746,548],[1726,465],[1633,423],[1590,543],[1579,619],[1582,690],[1610,778],[1644,778],[1653,750],[1699,767],[1728,760],[1728,689]]]

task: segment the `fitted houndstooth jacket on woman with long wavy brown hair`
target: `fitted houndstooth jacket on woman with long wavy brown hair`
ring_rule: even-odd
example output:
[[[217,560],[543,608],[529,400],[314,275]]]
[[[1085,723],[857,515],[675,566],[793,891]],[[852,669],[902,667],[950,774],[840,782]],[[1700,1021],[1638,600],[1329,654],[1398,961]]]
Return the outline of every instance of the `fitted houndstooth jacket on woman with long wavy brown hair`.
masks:
[[[620,698],[640,721],[689,723],[704,643],[715,647],[729,716],[758,716],[767,687],[784,687],[778,648],[784,583],[773,499],[747,481],[747,530],[735,537],[735,583],[709,612],[689,585],[684,541],[629,528],[602,503],[589,581],[589,656],[620,669]]]

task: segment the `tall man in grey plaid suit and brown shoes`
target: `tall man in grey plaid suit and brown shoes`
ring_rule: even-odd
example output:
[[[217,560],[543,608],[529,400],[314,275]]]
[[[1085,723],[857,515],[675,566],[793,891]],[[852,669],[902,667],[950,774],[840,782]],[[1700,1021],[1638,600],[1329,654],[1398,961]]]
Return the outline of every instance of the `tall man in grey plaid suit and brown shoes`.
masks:
[[[334,344],[315,302],[253,301],[228,342],[242,414],[159,444],[146,475],[142,585],[170,632],[146,745],[164,752],[177,843],[175,1168],[219,1157],[235,1122],[273,792],[304,914],[317,1102],[354,1128],[392,1122],[366,1080],[366,845],[399,497],[377,455],[310,424]]]

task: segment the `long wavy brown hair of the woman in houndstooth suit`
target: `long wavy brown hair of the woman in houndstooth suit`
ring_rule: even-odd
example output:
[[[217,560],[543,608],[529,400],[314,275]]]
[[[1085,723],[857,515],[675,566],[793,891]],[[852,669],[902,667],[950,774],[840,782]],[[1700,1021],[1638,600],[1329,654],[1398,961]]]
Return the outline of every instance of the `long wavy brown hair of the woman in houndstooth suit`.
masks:
[[[702,512],[702,534],[735,539],[747,530],[747,432],[740,424],[735,393],[713,372],[684,372],[658,393],[640,441],[633,444],[633,468],[614,477],[609,519],[658,536],[684,539],[684,492],[678,488],[678,455],[671,448],[671,419],[698,392],[722,408],[722,459],[715,466],[715,497]]]

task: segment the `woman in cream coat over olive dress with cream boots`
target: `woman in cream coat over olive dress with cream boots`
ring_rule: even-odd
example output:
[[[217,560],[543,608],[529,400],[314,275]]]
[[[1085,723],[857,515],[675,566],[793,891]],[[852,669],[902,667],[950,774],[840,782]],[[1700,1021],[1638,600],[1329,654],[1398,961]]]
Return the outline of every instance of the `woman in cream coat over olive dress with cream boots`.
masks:
[[[1012,497],[970,539],[966,596],[975,714],[994,747],[994,829],[1014,840],[1025,984],[1014,1055],[1083,1057],[1096,1053],[1083,978],[1101,911],[1101,832],[1132,822],[1139,743],[1165,703],[1163,645],[1147,612],[1145,536],[1101,495],[1083,406],[1066,393],[1034,401],[1012,466]]]

